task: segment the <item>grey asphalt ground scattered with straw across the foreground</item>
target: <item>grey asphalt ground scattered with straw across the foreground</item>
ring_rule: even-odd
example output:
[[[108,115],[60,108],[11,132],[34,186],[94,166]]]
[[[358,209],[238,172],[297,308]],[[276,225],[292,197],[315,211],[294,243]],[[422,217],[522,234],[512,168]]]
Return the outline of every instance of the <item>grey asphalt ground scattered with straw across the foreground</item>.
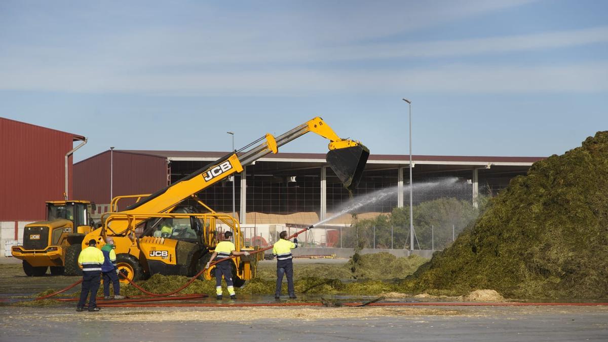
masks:
[[[78,313],[73,303],[19,307],[7,301],[77,280],[27,277],[15,259],[0,260],[0,341],[608,341],[606,306],[134,307]]]

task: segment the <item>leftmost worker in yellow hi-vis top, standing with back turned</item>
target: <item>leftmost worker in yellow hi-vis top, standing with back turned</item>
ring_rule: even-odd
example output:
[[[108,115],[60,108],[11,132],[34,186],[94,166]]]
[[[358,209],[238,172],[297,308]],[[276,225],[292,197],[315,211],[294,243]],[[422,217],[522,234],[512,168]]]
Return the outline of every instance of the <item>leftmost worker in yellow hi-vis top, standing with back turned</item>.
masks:
[[[89,292],[91,292],[89,311],[99,311],[95,296],[97,296],[97,290],[99,289],[102,265],[105,258],[103,257],[103,252],[98,250],[95,245],[97,245],[97,242],[94,239],[89,240],[89,246],[82,250],[78,256],[78,265],[82,267],[82,288],[76,311],[82,311],[85,308]]]

